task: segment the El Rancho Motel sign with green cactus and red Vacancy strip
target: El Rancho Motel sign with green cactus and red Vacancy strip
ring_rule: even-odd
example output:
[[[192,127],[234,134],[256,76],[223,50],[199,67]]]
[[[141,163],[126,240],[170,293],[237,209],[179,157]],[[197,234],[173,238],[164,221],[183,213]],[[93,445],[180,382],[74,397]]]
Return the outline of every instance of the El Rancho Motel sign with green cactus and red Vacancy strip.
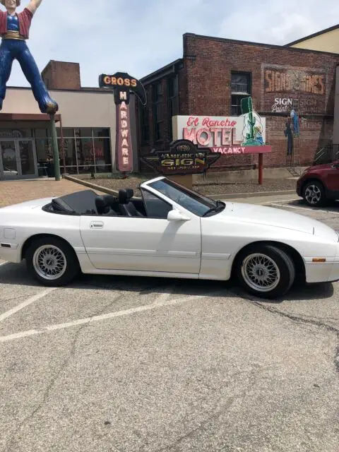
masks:
[[[192,141],[221,155],[270,153],[266,145],[266,118],[256,112],[239,117],[175,116],[173,138]]]

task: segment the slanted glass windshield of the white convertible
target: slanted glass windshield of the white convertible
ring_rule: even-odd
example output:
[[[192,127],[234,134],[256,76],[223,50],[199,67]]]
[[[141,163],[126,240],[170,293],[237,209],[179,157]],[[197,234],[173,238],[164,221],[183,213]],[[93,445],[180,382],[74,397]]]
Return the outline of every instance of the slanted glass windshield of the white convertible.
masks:
[[[199,217],[202,217],[211,209],[218,208],[218,203],[213,201],[213,199],[198,194],[196,191],[187,189],[185,186],[172,182],[169,179],[161,179],[149,185]]]

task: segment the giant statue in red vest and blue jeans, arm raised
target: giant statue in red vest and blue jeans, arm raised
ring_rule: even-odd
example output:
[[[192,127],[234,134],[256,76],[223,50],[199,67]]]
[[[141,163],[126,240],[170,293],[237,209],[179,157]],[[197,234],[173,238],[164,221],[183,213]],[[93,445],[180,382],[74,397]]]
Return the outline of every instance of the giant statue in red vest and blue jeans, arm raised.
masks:
[[[32,93],[39,105],[40,112],[54,114],[58,111],[59,106],[49,96],[37,64],[26,44],[32,18],[42,0],[30,0],[28,6],[20,13],[16,12],[16,8],[20,6],[21,0],[0,1],[6,8],[6,11],[0,11],[0,35],[2,38],[0,45],[0,110],[6,96],[6,83],[11,76],[13,60],[17,59],[25,78],[32,87]]]

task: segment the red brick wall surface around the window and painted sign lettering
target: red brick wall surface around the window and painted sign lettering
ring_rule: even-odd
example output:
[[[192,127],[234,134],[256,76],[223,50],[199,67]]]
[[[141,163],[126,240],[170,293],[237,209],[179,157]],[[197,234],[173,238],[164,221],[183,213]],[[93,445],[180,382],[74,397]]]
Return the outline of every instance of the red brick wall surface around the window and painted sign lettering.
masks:
[[[331,142],[335,69],[339,64],[339,55],[186,34],[182,62],[183,69],[178,71],[179,114],[182,115],[230,116],[232,71],[251,74],[254,109],[266,117],[266,142],[273,148],[272,154],[264,155],[266,167],[290,166],[291,163],[309,165],[314,160],[316,150]],[[315,74],[316,77],[321,77],[324,87],[321,90],[314,85],[314,93],[267,93],[268,70]],[[160,72],[159,79],[164,92],[164,139],[168,141],[171,137],[167,133],[167,77],[161,78]],[[142,155],[149,153],[151,148],[160,148],[164,144],[153,141],[151,85],[145,83],[145,88],[148,91],[150,142],[141,143]],[[284,88],[286,87],[283,86]],[[322,94],[316,94],[317,90]],[[292,162],[290,158],[287,160],[287,138],[284,134],[290,113],[271,112],[275,97],[291,96],[299,100],[298,113],[303,118],[300,137],[295,138]],[[224,155],[210,171],[253,167],[257,162],[257,155]],[[141,170],[149,171],[143,166]]]

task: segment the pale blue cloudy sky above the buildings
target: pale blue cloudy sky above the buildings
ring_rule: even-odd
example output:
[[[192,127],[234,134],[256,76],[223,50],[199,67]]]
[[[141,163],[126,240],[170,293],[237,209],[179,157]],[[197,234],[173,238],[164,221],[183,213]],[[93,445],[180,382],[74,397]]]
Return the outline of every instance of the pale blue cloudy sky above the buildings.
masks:
[[[40,71],[50,59],[78,62],[81,84],[97,87],[100,73],[141,78],[181,58],[185,32],[287,44],[338,18],[338,0],[43,0],[28,45]],[[28,86],[17,61],[8,86]]]

